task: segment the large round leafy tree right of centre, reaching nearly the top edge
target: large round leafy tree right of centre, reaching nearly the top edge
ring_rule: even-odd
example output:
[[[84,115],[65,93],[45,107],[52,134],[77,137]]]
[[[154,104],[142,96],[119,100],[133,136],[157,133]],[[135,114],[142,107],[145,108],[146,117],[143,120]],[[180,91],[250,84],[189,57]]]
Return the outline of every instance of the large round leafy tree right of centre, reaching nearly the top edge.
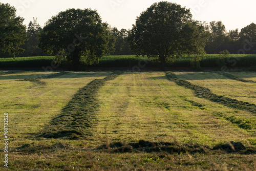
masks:
[[[183,54],[203,53],[205,28],[189,9],[169,2],[153,4],[137,17],[128,40],[137,55],[157,56],[164,64]]]

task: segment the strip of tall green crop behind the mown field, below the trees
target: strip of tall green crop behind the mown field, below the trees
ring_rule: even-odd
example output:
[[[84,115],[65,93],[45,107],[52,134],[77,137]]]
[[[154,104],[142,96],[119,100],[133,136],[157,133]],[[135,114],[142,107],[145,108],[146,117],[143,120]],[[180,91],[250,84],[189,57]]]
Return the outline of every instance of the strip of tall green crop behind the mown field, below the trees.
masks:
[[[172,62],[167,62],[166,67],[191,67],[191,60],[195,55],[183,56],[175,59]],[[222,65],[219,66],[218,63]],[[223,61],[222,61],[223,60]],[[36,57],[17,57],[17,58],[0,58],[0,68],[42,68],[52,65],[54,56],[36,56]],[[146,65],[145,65],[146,64]],[[101,68],[114,68],[114,67],[159,67],[159,62],[156,58],[136,57],[136,56],[103,56],[100,58],[99,63],[94,63],[88,67],[101,67]],[[229,67],[230,69],[243,68],[247,71],[256,71],[256,55],[228,55],[220,59],[220,55],[205,55],[200,57],[201,67],[221,68],[222,66]],[[67,67],[60,65],[60,67]],[[144,67],[143,67],[144,68]]]

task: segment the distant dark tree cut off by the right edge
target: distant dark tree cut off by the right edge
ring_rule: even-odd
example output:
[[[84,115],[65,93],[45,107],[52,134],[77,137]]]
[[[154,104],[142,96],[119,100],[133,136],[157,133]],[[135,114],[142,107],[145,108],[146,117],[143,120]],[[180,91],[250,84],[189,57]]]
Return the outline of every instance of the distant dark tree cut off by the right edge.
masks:
[[[245,28],[243,28],[240,32],[240,44],[244,44],[245,41],[256,42],[256,24],[252,23]]]

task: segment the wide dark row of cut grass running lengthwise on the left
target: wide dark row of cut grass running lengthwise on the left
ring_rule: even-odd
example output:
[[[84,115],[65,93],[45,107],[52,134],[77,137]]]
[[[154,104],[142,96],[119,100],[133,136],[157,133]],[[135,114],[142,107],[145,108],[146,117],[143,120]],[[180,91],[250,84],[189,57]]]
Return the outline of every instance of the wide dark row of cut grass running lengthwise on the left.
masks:
[[[120,72],[115,72],[103,79],[95,79],[80,89],[72,100],[62,109],[37,137],[78,138],[92,135],[90,127],[95,120],[98,103],[95,96],[106,81],[115,79]]]

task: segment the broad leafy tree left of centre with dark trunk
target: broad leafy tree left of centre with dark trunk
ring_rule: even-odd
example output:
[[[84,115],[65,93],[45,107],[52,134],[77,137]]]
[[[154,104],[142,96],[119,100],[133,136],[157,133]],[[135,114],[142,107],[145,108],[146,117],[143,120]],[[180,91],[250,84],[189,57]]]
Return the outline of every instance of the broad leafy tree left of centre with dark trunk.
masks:
[[[108,50],[107,24],[97,11],[69,9],[48,20],[39,33],[39,47],[57,53],[56,60],[71,62],[73,69],[81,63],[93,64]]]

